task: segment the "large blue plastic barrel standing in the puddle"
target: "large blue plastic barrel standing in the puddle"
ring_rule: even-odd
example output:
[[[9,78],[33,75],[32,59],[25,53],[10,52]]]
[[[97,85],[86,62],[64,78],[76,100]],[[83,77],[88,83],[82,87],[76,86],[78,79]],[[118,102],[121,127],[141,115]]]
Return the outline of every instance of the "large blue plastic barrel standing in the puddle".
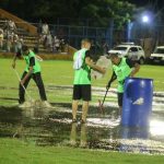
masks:
[[[149,127],[149,118],[152,112],[152,79],[126,79],[121,125],[127,127]]]

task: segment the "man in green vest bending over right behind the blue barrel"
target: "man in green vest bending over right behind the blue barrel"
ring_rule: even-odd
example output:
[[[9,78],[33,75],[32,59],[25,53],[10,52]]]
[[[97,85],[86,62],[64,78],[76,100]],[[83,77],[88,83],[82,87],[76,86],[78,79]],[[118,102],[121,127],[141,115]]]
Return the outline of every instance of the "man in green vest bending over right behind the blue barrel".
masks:
[[[113,75],[107,84],[107,87],[110,87],[112,82],[117,79],[118,106],[121,112],[125,80],[128,77],[133,78],[133,75],[140,70],[140,65],[130,59],[120,57],[119,54],[109,54],[109,58],[113,63]]]

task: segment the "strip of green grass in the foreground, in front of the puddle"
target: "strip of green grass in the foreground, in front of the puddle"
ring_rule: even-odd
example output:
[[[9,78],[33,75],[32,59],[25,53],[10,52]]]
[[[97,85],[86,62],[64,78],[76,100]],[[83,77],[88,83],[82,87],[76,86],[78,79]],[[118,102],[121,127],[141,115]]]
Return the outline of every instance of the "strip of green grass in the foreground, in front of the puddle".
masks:
[[[0,164],[163,164],[162,155],[104,152],[67,147],[35,147],[16,139],[0,140]]]

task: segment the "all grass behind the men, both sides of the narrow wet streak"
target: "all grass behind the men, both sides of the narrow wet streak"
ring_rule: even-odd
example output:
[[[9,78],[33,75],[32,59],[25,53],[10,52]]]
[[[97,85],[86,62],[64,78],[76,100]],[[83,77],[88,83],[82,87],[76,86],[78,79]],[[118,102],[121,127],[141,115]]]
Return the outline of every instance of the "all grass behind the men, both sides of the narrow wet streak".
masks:
[[[12,59],[0,59],[0,86],[4,86],[5,90],[0,90],[1,97],[17,97],[17,78],[11,68]],[[72,61],[61,61],[61,60],[45,60],[40,62],[42,65],[42,75],[46,86],[48,85],[72,85],[73,83],[73,69]],[[23,60],[17,60],[16,70],[20,75],[24,70],[25,63]],[[164,91],[164,67],[163,66],[141,66],[140,72],[137,74],[139,78],[153,79],[154,91]],[[112,75],[112,70],[107,70],[106,75],[101,80],[92,80],[93,86],[106,86],[109,78]],[[113,83],[112,87],[116,87],[117,82]],[[14,87],[14,89],[11,89]],[[37,87],[33,80],[30,82],[27,91],[35,99],[39,98]],[[69,92],[63,92],[63,90],[51,90],[47,92],[47,97],[49,102],[61,102],[70,103],[72,97],[72,90]],[[93,101],[97,102],[97,96],[93,95]],[[0,105],[12,104],[13,101],[2,101],[0,99]]]

